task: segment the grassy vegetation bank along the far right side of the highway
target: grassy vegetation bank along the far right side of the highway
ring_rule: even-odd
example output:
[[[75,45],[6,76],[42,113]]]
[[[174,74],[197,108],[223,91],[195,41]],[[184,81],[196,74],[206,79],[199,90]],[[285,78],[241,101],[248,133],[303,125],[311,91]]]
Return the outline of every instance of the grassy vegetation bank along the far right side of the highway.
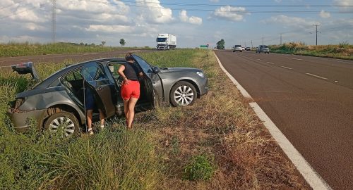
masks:
[[[306,45],[303,42],[289,42],[280,45],[270,46],[274,53],[287,53],[302,56],[316,56],[325,58],[340,58],[353,60],[353,45],[341,42],[338,45]]]

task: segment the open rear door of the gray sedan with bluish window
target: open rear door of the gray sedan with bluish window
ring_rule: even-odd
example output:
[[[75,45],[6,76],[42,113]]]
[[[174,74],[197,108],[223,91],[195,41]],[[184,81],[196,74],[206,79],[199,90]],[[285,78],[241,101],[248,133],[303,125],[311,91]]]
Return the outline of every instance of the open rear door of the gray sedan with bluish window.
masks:
[[[87,63],[80,71],[86,87],[95,91],[95,105],[102,109],[107,118],[115,114],[114,87],[104,75],[102,68],[95,62]],[[88,87],[87,87],[88,86]]]

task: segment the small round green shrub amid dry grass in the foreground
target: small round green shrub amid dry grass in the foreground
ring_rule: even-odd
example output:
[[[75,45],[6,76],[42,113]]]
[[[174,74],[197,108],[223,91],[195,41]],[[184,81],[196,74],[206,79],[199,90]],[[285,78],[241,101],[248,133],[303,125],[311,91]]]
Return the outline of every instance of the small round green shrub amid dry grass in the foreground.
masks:
[[[205,155],[197,155],[193,156],[185,166],[184,178],[189,180],[209,180],[214,172],[215,167],[213,167],[210,158]]]

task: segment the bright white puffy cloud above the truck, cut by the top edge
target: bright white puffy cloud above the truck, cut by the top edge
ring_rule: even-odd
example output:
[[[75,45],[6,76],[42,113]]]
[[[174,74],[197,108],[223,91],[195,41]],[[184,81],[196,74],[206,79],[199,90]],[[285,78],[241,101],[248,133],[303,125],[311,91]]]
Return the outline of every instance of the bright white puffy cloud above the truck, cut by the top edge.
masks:
[[[174,20],[172,9],[164,8],[159,0],[136,0],[136,6],[140,9],[140,20],[148,23],[170,23]]]

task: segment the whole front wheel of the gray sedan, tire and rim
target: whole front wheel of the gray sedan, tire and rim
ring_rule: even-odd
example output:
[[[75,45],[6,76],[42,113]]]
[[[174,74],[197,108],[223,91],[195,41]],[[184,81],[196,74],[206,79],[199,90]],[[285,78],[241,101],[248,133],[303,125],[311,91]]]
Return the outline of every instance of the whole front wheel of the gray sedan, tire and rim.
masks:
[[[173,106],[191,106],[197,99],[197,91],[193,84],[181,81],[174,84],[169,94]]]

